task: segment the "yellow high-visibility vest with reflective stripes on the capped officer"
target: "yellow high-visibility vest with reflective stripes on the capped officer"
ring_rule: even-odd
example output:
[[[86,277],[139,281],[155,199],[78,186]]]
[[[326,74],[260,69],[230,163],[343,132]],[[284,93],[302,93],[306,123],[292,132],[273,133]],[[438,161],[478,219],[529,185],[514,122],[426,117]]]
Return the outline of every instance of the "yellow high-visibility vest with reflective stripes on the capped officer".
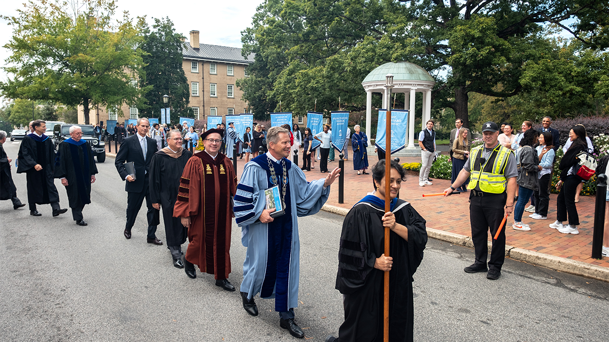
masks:
[[[471,180],[467,188],[476,189],[480,183],[480,190],[491,194],[501,194],[505,191],[507,180],[505,179],[505,166],[507,158],[512,153],[507,147],[498,144],[493,148],[490,156],[484,162],[480,159],[484,145],[474,147],[470,152],[470,173]]]

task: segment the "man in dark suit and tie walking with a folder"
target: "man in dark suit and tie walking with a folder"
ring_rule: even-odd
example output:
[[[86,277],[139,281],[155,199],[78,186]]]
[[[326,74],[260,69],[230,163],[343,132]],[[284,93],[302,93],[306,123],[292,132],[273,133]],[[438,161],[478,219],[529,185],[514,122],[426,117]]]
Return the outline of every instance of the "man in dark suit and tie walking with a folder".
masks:
[[[131,239],[131,228],[135,223],[135,218],[138,216],[139,208],[142,206],[144,198],[146,198],[146,206],[148,212],[148,243],[155,245],[163,245],[161,240],[157,239],[157,225],[159,222],[159,212],[152,207],[150,200],[149,178],[150,160],[157,152],[157,141],[148,138],[146,133],[150,129],[150,122],[146,118],[138,119],[136,126],[138,133],[124,139],[121,148],[116,153],[116,161],[114,166],[121,175],[122,180],[126,180],[125,191],[127,191],[127,224],[125,225],[124,235],[127,239]],[[135,168],[135,178],[127,173],[125,162],[133,162]]]

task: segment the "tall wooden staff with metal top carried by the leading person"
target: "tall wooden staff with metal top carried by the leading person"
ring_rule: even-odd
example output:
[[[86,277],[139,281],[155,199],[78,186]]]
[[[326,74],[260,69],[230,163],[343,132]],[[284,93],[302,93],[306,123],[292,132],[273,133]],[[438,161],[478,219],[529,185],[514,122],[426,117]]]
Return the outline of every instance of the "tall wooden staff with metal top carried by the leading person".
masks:
[[[391,89],[393,88],[393,75],[385,76],[385,102],[387,111],[385,116],[385,212],[391,211]],[[385,257],[389,256],[389,228],[385,227]],[[383,340],[389,342],[389,271],[385,271],[384,312],[383,312]]]

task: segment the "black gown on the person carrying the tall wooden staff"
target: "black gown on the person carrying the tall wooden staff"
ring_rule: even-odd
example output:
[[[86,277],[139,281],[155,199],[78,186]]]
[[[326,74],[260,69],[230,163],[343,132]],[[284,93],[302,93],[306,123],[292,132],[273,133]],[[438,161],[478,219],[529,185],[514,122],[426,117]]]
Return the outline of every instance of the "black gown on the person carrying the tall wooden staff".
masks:
[[[404,200],[395,200],[392,208],[396,222],[408,228],[408,241],[390,232],[393,266],[389,271],[389,341],[412,341],[412,275],[423,259],[426,222]],[[376,203],[365,201],[353,206],[343,222],[336,277],[336,289],[345,295],[340,342],[383,340],[384,272],[374,268],[376,258],[384,253],[382,215],[384,205],[377,198]]]

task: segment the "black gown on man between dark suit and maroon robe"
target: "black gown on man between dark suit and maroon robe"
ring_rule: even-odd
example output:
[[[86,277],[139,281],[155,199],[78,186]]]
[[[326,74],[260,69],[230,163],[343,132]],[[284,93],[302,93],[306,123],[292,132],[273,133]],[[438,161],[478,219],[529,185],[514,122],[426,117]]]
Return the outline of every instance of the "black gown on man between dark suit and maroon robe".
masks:
[[[188,237],[188,228],[182,225],[179,217],[174,217],[180,176],[192,156],[189,150],[181,149],[181,152],[178,158],[173,158],[161,150],[150,161],[150,198],[152,203],[160,203],[163,208],[167,246],[179,246]]]

